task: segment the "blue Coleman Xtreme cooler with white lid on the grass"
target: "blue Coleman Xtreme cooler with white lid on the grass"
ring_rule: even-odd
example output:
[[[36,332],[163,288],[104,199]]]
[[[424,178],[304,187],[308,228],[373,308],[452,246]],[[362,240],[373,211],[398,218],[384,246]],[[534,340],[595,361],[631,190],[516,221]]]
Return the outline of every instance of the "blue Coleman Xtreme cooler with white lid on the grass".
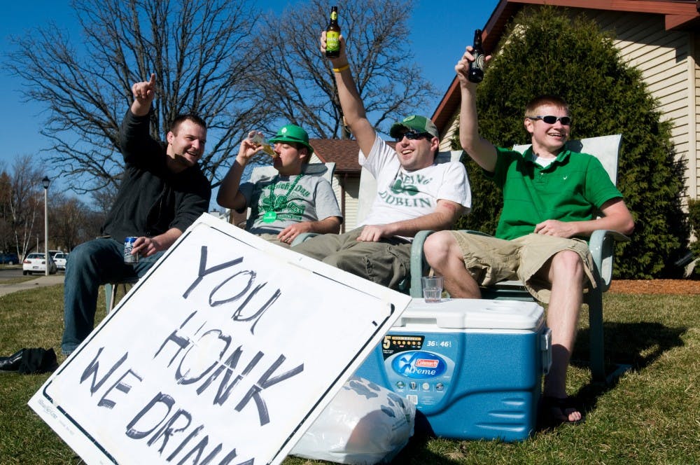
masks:
[[[535,302],[415,298],[356,374],[416,404],[437,436],[524,440],[550,342]]]

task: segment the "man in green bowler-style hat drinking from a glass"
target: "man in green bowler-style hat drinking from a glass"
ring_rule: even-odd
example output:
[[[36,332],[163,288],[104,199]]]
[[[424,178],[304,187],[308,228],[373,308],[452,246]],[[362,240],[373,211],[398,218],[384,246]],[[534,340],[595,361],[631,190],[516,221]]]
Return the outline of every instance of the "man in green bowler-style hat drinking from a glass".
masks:
[[[297,125],[285,125],[269,143],[274,151],[265,152],[274,154],[277,174],[241,184],[248,161],[265,145],[260,132],[249,132],[219,186],[218,204],[239,213],[250,207],[246,230],[283,247],[302,232],[339,232],[342,214],[330,183],[323,176],[304,175],[314,153],[309,134]]]

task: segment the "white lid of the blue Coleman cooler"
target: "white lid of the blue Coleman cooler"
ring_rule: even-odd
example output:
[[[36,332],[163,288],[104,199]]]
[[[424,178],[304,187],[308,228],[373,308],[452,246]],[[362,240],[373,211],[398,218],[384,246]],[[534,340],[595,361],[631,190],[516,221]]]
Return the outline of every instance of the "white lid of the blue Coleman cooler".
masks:
[[[536,330],[544,319],[544,309],[523,300],[446,299],[426,303],[414,298],[394,326],[432,325],[449,329],[529,329]]]

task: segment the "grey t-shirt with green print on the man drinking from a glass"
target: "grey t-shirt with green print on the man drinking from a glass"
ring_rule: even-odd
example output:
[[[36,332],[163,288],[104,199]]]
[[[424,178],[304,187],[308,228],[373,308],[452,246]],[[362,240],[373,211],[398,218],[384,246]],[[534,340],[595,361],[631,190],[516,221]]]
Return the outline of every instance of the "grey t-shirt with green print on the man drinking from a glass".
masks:
[[[251,207],[246,230],[252,234],[277,234],[288,225],[342,218],[335,193],[322,176],[265,176],[239,188]]]

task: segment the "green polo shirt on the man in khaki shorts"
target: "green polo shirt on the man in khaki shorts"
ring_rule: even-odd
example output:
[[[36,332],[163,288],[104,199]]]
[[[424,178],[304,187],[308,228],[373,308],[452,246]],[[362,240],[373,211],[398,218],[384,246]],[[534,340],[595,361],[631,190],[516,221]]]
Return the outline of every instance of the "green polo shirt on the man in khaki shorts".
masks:
[[[486,176],[503,189],[503,211],[496,237],[511,240],[554,219],[587,221],[610,199],[622,197],[593,155],[564,150],[548,167],[532,161],[532,149],[519,153],[497,147],[498,161]]]

